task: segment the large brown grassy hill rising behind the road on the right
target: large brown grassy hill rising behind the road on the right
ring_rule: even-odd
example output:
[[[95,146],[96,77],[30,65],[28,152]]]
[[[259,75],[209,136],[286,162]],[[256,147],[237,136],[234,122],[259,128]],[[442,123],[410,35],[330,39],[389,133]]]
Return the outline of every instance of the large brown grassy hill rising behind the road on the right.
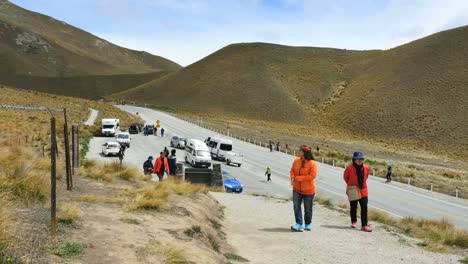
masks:
[[[466,150],[467,38],[461,27],[385,51],[234,44],[110,98]]]

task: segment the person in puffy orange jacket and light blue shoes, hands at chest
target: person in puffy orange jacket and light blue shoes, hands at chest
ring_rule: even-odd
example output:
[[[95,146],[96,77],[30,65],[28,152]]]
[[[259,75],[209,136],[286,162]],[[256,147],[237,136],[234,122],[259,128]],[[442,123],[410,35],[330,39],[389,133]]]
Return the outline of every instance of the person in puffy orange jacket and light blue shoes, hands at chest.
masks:
[[[302,232],[312,230],[312,207],[315,197],[315,178],[317,177],[317,164],[310,147],[302,145],[299,157],[292,164],[291,186],[293,187],[293,204],[296,224],[291,230]],[[304,201],[304,219],[302,218],[302,202]],[[304,221],[303,221],[304,220]],[[305,222],[305,228],[304,228]]]

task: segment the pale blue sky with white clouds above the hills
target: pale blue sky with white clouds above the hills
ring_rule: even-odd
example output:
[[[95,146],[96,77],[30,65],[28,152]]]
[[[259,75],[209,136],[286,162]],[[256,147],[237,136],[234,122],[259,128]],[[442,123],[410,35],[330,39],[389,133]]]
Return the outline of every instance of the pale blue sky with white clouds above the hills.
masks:
[[[468,25],[468,0],[10,0],[187,66],[232,43],[389,49]]]

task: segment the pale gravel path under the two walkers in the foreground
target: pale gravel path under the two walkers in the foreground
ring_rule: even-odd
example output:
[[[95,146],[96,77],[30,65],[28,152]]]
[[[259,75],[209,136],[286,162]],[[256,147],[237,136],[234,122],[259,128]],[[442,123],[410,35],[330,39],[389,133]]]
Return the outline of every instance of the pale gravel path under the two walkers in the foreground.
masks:
[[[313,230],[294,233],[291,202],[212,193],[224,206],[228,243],[255,264],[271,263],[459,263],[461,256],[424,251],[374,225],[374,232],[348,228],[342,213],[314,206]]]

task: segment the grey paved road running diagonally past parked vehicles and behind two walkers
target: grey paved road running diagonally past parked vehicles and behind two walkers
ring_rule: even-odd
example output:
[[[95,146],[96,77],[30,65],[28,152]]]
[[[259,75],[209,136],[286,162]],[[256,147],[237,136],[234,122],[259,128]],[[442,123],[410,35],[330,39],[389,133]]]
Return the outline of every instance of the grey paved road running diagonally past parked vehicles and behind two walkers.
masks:
[[[140,117],[146,122],[154,124],[161,120],[161,125],[166,130],[166,137],[143,135],[134,136],[132,147],[127,152],[126,160],[138,167],[145,158],[151,154],[156,155],[164,146],[169,145],[169,139],[173,135],[186,136],[204,140],[208,136],[218,135],[208,129],[201,128],[184,120],[175,118],[167,113],[135,106],[119,106],[130,113],[140,113]],[[231,138],[232,139],[232,138]],[[93,146],[105,141],[98,138],[99,143],[91,144],[91,151],[100,151]],[[259,193],[276,197],[289,198],[291,187],[289,185],[289,169],[293,156],[285,153],[273,152],[257,145],[249,144],[237,139],[234,142],[234,150],[244,154],[242,167],[224,166],[240,182],[244,184],[247,193]],[[267,139],[265,139],[266,141]],[[183,150],[178,150],[178,160],[183,160]],[[92,154],[90,155],[97,155]],[[265,169],[272,168],[272,182],[266,182]],[[318,162],[318,177],[316,180],[317,194],[328,197],[336,203],[346,203],[344,190],[345,183],[342,180],[343,168],[337,168]],[[447,218],[458,226],[468,229],[468,201],[457,199],[448,195],[432,193],[420,188],[407,186],[402,183],[386,184],[381,178],[370,177],[369,206],[385,211],[396,217],[413,216],[427,218]]]

